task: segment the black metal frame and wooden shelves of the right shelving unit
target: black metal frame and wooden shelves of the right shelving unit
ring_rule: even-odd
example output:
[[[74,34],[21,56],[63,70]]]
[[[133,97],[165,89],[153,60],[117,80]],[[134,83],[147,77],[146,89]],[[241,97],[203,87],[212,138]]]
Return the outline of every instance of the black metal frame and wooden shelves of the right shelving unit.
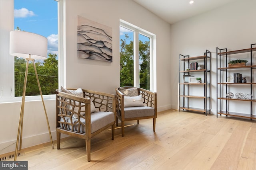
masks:
[[[238,98],[226,98],[224,96],[224,92],[222,91],[224,88],[224,91],[226,94],[228,93],[228,88],[229,86],[234,86],[234,85],[244,85],[246,87],[250,86],[250,93],[252,94],[253,90],[253,84],[256,84],[256,82],[252,82],[252,77],[255,76],[252,73],[252,69],[256,68],[256,65],[253,65],[253,52],[256,51],[256,44],[251,44],[250,49],[241,49],[241,50],[236,50],[236,51],[228,51],[226,48],[225,49],[220,49],[216,47],[216,117],[218,115],[226,115],[232,116],[232,117],[241,117],[241,118],[247,118],[247,119],[256,119],[256,115],[252,113],[252,107],[253,103],[256,102],[256,99],[238,99]],[[237,66],[237,67],[228,67],[228,57],[229,55],[233,54],[239,54],[239,53],[249,53],[250,52],[250,65],[247,66]],[[234,57],[235,58],[235,57]],[[224,63],[222,63],[224,62]],[[255,64],[255,63],[254,63]],[[250,70],[250,82],[246,83],[234,83],[234,82],[227,82],[228,78],[228,71],[230,69],[246,69]],[[226,82],[222,82],[223,76],[226,77]],[[254,80],[255,81],[255,80]],[[225,95],[226,95],[225,94]],[[224,97],[222,97],[224,96]],[[222,100],[224,100],[224,104],[222,104]],[[250,102],[250,113],[234,113],[230,112],[228,110],[228,105],[229,101],[242,101],[242,102]],[[222,105],[225,106],[224,109],[222,109]],[[241,104],[242,105],[242,104]]]

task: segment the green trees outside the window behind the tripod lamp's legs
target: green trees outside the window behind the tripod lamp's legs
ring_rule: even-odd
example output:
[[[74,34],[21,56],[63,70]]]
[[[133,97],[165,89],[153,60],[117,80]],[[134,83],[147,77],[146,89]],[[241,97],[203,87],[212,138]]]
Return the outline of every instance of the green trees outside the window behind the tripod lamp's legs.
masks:
[[[44,95],[54,94],[58,88],[58,60],[57,55],[49,54],[48,59],[40,62],[37,61],[36,71],[40,82],[41,90]],[[24,77],[26,71],[25,59],[15,57],[14,59],[14,73],[15,73],[15,96],[22,96]],[[26,86],[26,96],[40,95],[36,75],[34,72],[33,63],[29,63],[28,77]]]

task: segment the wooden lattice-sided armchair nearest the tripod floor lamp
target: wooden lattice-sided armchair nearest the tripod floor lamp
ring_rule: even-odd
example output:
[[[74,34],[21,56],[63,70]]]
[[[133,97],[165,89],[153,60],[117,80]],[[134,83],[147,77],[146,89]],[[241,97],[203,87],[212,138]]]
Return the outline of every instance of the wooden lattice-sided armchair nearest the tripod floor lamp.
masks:
[[[81,93],[76,96],[77,93],[72,92],[78,89],[65,90],[56,90],[57,149],[60,149],[60,133],[85,139],[87,160],[90,161],[92,137],[111,126],[114,140],[115,95],[80,88]]]

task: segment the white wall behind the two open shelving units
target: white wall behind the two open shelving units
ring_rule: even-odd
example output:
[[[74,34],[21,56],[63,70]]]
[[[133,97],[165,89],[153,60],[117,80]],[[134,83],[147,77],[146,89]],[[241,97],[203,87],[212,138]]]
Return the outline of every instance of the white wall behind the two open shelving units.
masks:
[[[216,47],[232,51],[256,43],[255,6],[255,0],[237,1],[171,25],[173,108],[178,105],[179,54],[200,56],[208,49],[212,52],[211,112],[216,114]]]

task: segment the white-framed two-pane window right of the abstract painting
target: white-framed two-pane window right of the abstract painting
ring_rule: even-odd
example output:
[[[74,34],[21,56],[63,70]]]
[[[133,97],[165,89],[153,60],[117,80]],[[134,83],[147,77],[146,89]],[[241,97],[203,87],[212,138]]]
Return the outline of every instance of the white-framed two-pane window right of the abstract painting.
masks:
[[[153,34],[120,23],[120,86],[155,90]]]

